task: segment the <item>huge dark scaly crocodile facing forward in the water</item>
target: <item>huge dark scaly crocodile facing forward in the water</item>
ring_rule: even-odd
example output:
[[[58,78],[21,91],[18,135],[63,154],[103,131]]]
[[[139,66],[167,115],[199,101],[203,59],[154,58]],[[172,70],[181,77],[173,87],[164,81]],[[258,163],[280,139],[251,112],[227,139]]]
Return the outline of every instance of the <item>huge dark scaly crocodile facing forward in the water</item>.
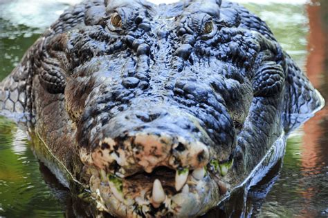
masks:
[[[205,214],[323,105],[266,23],[221,0],[83,1],[0,83],[1,115],[116,217]]]

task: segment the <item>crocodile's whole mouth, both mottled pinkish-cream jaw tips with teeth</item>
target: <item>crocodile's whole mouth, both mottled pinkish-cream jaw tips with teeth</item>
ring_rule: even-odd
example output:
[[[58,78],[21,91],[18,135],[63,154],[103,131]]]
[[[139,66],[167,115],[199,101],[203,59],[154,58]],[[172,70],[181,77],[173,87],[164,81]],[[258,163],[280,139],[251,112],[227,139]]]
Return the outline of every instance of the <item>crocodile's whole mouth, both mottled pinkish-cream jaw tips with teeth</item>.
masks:
[[[227,167],[210,161],[207,149],[182,137],[138,133],[104,138],[91,153],[81,148],[80,158],[91,169],[99,210],[117,217],[183,217],[216,206],[229,187],[217,176]]]

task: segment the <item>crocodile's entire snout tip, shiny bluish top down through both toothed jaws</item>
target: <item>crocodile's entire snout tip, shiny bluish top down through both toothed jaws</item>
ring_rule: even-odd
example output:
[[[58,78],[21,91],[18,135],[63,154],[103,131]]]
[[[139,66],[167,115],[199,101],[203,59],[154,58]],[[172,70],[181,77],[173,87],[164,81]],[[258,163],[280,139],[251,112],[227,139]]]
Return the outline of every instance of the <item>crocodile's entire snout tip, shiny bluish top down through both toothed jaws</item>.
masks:
[[[179,108],[139,106],[102,126],[90,153],[80,151],[84,164],[95,168],[90,187],[100,201],[109,210],[120,205],[122,211],[133,206],[143,214],[152,210],[183,214],[181,206],[208,201],[201,193],[217,196],[212,191],[218,190],[215,180],[206,170],[213,141],[199,119]],[[201,207],[190,210],[197,214]]]

